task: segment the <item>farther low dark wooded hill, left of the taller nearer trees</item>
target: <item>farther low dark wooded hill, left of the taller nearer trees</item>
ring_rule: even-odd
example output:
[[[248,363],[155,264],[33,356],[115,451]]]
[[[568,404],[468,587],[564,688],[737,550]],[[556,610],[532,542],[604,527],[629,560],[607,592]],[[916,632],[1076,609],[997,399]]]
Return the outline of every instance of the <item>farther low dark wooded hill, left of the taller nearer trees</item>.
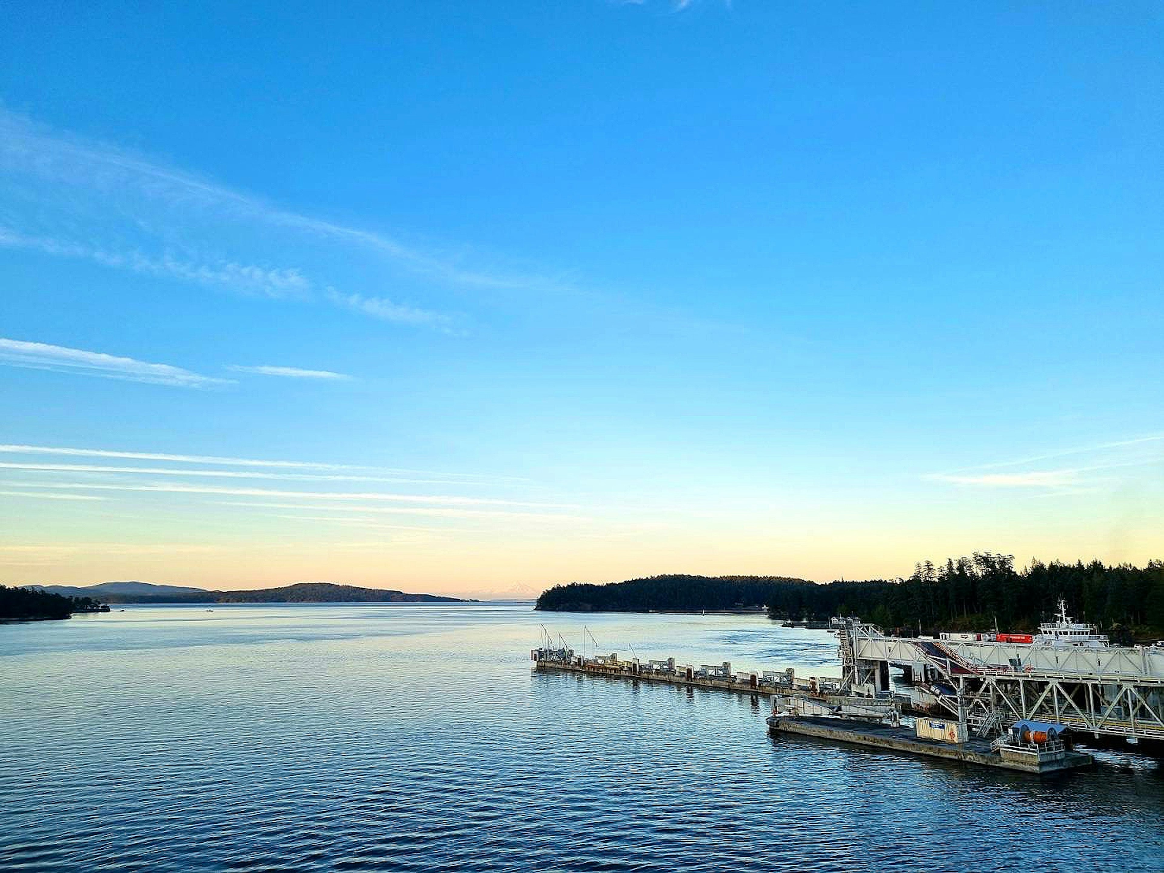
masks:
[[[554,612],[698,612],[764,609],[780,589],[816,588],[790,576],[688,576],[632,579],[605,585],[572,582],[538,597],[534,609]]]

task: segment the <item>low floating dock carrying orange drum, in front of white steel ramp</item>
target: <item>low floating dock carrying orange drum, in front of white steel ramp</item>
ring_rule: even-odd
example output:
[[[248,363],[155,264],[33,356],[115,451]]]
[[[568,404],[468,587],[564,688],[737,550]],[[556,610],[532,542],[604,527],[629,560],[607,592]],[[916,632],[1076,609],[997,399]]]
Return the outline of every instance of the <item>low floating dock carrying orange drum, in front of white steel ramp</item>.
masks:
[[[1023,773],[1057,773],[1090,767],[1095,762],[1090,754],[1066,748],[1062,743],[1044,745],[1041,748],[991,744],[985,739],[967,739],[964,743],[952,744],[916,737],[908,730],[887,724],[851,722],[842,718],[773,715],[768,718],[768,730],[772,733],[797,733],[868,748],[908,752]]]

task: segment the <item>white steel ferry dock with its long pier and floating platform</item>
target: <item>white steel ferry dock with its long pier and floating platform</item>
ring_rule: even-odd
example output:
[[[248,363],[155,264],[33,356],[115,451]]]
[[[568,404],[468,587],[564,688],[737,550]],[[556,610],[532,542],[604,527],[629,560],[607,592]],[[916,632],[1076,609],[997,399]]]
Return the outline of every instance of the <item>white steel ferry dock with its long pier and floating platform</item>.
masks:
[[[1063,619],[1052,630],[1060,625],[1076,627]],[[733,670],[729,661],[696,667],[675,658],[643,660],[636,653],[627,660],[592,651],[588,658],[560,634],[554,640],[542,631],[542,645],[530,653],[538,673],[765,695],[772,700],[772,733],[1036,774],[1093,765],[1092,755],[1072,748],[1073,736],[1083,732],[1131,743],[1164,733],[1164,651],[1119,648],[1093,636],[1042,646],[1016,643],[1014,634],[1001,643],[977,639],[980,634],[889,638],[843,619],[837,643],[844,675],[805,680],[793,669]],[[909,667],[937,688],[935,705],[918,709],[890,690],[890,665]],[[903,726],[902,714],[916,718]]]

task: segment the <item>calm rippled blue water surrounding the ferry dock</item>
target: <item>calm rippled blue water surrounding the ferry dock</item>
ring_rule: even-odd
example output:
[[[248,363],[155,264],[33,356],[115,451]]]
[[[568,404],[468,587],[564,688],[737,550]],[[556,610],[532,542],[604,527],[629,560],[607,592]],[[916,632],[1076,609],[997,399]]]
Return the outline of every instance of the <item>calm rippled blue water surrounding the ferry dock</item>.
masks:
[[[766,703],[533,675],[582,647],[836,674],[753,616],[129,608],[0,626],[5,871],[1161,871],[1164,774],[765,732]],[[587,638],[588,639],[588,638]],[[589,646],[587,646],[589,648]]]

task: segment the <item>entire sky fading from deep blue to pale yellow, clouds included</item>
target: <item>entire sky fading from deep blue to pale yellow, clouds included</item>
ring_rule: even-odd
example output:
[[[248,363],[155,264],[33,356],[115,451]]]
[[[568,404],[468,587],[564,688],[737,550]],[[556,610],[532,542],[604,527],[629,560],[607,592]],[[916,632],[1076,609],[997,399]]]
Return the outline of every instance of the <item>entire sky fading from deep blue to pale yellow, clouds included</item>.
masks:
[[[10,3],[0,577],[1164,555],[1162,29]]]

